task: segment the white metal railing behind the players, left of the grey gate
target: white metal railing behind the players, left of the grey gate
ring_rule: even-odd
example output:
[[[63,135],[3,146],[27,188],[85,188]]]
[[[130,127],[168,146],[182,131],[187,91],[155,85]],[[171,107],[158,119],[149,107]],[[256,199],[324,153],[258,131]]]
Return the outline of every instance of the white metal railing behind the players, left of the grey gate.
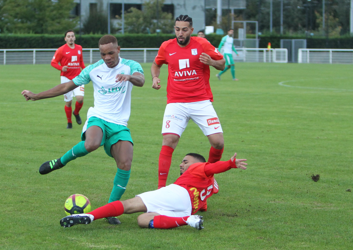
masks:
[[[0,49],[0,64],[50,64],[56,49]],[[101,59],[98,48],[82,49],[83,61],[92,64]],[[237,48],[238,62],[287,63],[287,49]],[[158,48],[122,48],[120,56],[138,63],[152,63]]]

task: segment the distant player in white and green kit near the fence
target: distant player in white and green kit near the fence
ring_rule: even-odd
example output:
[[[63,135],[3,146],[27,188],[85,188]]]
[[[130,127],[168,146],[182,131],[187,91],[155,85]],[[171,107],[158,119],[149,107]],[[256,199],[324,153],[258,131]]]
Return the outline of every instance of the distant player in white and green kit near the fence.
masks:
[[[237,54],[237,56],[239,56],[239,54],[238,54],[237,50],[234,48],[233,34],[234,34],[234,30],[229,29],[228,34],[226,36],[222,37],[220,45],[218,46],[219,51],[221,51],[221,48],[223,46],[223,56],[224,56],[224,59],[226,60],[225,69],[216,75],[216,77],[218,77],[218,79],[221,79],[221,75],[230,68],[233,80],[238,81],[238,79],[235,78],[235,66],[234,66],[234,60],[233,60],[232,53],[234,51],[235,54]]]

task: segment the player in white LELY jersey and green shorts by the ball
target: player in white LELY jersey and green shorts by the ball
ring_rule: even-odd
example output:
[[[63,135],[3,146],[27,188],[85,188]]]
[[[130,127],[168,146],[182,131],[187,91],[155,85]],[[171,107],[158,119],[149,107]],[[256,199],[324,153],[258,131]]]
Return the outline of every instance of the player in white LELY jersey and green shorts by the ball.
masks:
[[[120,46],[114,36],[103,36],[98,46],[102,60],[87,66],[70,82],[38,94],[23,90],[22,95],[27,101],[35,101],[63,95],[90,81],[93,83],[94,107],[88,110],[82,141],[59,159],[44,162],[39,172],[50,173],[104,145],[107,155],[114,158],[118,167],[109,198],[109,202],[112,202],[120,200],[130,178],[133,142],[126,126],[130,117],[131,90],[133,85],[142,87],[145,78],[140,64],[119,57]],[[107,220],[110,224],[120,224],[115,217]]]

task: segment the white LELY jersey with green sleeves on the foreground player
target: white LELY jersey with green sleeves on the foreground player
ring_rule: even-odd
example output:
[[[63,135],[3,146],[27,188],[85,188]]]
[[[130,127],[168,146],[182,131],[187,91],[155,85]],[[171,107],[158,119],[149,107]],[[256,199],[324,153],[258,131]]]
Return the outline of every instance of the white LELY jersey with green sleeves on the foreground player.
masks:
[[[109,68],[103,60],[85,67],[72,79],[80,86],[93,83],[94,107],[87,112],[87,119],[98,117],[110,123],[127,126],[130,117],[132,83],[129,81],[115,82],[117,74],[132,75],[134,72],[143,74],[142,67],[133,60],[119,57],[119,64]]]

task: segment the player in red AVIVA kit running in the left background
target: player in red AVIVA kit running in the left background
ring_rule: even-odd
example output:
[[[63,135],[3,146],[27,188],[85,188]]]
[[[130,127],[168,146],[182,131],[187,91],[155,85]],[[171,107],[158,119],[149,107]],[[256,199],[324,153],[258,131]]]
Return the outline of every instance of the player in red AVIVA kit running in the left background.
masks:
[[[78,44],[75,44],[75,40],[76,37],[73,30],[67,30],[65,32],[66,44],[55,51],[54,57],[52,59],[51,65],[55,69],[61,71],[61,83],[71,81],[73,78],[78,76],[79,73],[81,73],[81,68],[85,68],[85,64],[83,63],[82,47]],[[85,89],[82,85],[64,95],[67,129],[72,129],[71,113],[73,113],[78,124],[82,123],[78,112],[83,105],[84,93]],[[76,104],[75,110],[72,112],[71,103],[74,96],[76,97]]]

